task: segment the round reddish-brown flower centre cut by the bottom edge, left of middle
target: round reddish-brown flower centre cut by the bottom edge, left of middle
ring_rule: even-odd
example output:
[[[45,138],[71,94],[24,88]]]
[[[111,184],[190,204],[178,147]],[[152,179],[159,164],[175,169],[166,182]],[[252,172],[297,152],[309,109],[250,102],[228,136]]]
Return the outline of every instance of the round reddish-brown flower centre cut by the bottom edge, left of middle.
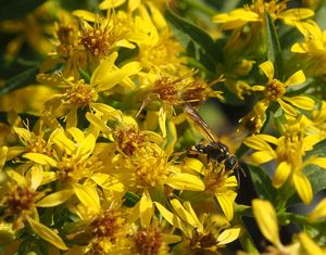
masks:
[[[143,255],[159,254],[163,244],[162,233],[156,228],[141,229],[134,239],[137,252]]]

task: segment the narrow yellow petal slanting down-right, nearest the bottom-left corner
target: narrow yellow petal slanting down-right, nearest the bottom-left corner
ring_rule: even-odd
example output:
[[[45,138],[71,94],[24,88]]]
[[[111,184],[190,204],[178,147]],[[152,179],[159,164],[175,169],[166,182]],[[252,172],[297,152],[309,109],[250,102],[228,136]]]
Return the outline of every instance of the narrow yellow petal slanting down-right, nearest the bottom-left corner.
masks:
[[[26,217],[30,228],[35,233],[37,233],[40,238],[48,241],[49,243],[52,243],[54,246],[57,246],[60,250],[68,250],[68,247],[65,245],[65,243],[62,241],[62,239],[55,233],[53,230],[49,229],[45,225],[34,220],[30,217]]]

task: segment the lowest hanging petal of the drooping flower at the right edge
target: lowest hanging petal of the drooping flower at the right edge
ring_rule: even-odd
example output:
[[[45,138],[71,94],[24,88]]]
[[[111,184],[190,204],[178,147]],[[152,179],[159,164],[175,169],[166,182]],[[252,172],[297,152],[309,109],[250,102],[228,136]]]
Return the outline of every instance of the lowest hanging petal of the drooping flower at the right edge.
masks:
[[[296,173],[293,175],[293,183],[300,199],[304,204],[309,204],[313,199],[313,190],[308,177],[302,173]]]

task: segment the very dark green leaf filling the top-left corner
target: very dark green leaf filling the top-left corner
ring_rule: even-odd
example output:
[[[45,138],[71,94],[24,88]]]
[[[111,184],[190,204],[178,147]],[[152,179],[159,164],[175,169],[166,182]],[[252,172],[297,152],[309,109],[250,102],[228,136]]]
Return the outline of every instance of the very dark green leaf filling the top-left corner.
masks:
[[[1,0],[0,21],[22,18],[43,2],[45,0]]]

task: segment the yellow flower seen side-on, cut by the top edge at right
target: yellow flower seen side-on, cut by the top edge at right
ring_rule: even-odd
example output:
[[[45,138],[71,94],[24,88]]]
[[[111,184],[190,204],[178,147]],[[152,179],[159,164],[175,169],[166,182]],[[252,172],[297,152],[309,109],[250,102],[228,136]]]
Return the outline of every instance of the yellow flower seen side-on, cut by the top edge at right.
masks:
[[[314,15],[310,9],[287,9],[287,1],[284,0],[253,0],[251,5],[213,16],[213,22],[223,24],[222,28],[225,30],[235,29],[247,23],[264,23],[265,11],[271,14],[274,21],[281,20],[287,25],[294,25],[301,20]]]

